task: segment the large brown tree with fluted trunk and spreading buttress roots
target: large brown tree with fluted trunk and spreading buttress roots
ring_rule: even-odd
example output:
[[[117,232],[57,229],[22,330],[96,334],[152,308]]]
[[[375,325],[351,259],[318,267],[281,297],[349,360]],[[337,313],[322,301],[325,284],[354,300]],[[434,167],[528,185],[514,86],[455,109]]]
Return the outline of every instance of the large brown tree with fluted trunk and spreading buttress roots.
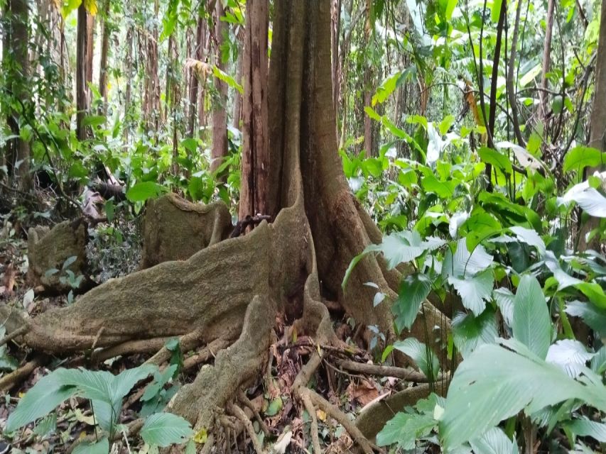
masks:
[[[203,343],[229,345],[217,353],[214,365],[203,367],[193,383],[180,389],[171,407],[196,428],[214,428],[217,408],[229,409],[240,390],[259,380],[276,315],[286,314],[299,336],[335,345],[340,341],[332,331],[328,306],[339,304],[359,323],[395,337],[389,303],[374,307],[376,290],[364,283],[374,282],[393,301],[406,270],[388,271],[381,256],[369,255],[355,267],[345,291],[341,288],[352,258],[382,237],[347,187],[337,154],[330,0],[278,0],[274,8],[266,118],[271,162],[266,209],[276,214],[271,223],[212,243],[188,260],[112,279],[74,305],[33,321],[0,308],[9,333],[25,324],[21,341],[63,355],[93,345],[114,352],[137,345],[141,351],[141,341],[168,336],[182,336],[183,350]],[[249,18],[250,13],[254,11]],[[250,57],[245,57],[247,65]],[[251,79],[245,106],[256,82],[254,75]],[[262,141],[257,145],[266,146]],[[421,340],[427,331],[448,323],[430,304],[423,309],[411,330]],[[306,408],[321,403],[305,387],[318,364],[320,354],[313,353],[293,384],[296,399]],[[368,445],[360,444],[369,452]]]

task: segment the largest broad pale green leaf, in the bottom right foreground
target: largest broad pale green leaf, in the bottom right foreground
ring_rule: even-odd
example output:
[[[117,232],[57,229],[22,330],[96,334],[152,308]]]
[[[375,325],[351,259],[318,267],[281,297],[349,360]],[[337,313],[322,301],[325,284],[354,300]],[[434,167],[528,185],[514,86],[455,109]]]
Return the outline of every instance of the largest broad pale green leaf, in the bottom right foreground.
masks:
[[[573,380],[524,345],[514,340],[503,343],[516,351],[480,345],[456,370],[440,419],[446,449],[481,436],[522,409],[533,414],[568,399],[606,409],[606,389],[601,383]]]

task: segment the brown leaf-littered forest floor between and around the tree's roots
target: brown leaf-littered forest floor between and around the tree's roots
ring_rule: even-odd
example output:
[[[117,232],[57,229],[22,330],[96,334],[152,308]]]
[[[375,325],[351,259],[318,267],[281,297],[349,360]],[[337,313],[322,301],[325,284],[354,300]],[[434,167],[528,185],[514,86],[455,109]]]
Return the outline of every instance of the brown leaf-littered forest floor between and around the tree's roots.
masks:
[[[136,227],[121,226],[129,231],[127,238],[121,238],[121,244],[115,242],[107,246],[107,226],[90,228],[90,243],[87,255],[98,283],[109,277],[126,275],[139,265],[140,247],[136,240]],[[21,226],[21,231],[23,231]],[[24,309],[34,317],[43,311],[68,304],[77,304],[77,297],[70,294],[48,295],[38,294],[36,289],[28,286],[27,243],[8,223],[0,232],[0,304],[11,305]],[[332,404],[338,406],[353,421],[364,409],[379,399],[401,391],[402,387],[412,386],[410,382],[394,377],[373,377],[364,372],[351,372],[342,367],[343,360],[356,363],[374,363],[378,358],[372,358],[368,353],[368,340],[364,340],[362,332],[355,320],[342,313],[333,315],[333,328],[337,336],[350,345],[345,350],[330,352],[325,355],[324,364],[315,375],[315,383],[311,386]],[[314,348],[317,348],[309,338],[296,333],[290,335],[288,326],[282,319],[276,319],[276,338],[278,341],[271,345],[269,363],[264,378],[247,389],[247,396],[254,406],[259,419],[253,419],[253,426],[259,438],[265,438],[266,445],[274,443],[274,452],[309,452],[310,450],[310,417],[306,411],[301,411],[293,400],[291,387],[301,367]],[[4,333],[3,335],[4,336]],[[0,336],[0,338],[2,337]],[[375,341],[376,342],[376,341]],[[371,341],[372,343],[372,341]],[[13,370],[23,370],[25,373],[11,386],[0,389],[5,393],[0,400],[0,432],[6,426],[6,419],[15,408],[23,395],[31,389],[41,377],[57,367],[85,367],[90,370],[107,370],[113,374],[141,365],[151,354],[129,355],[127,357],[109,358],[103,362],[92,362],[92,352],[67,358],[55,358],[46,355],[36,355],[17,343],[10,342],[0,347],[0,383]],[[174,359],[174,358],[173,358]],[[210,358],[210,363],[212,363]],[[165,385],[164,394],[168,398],[175,394],[183,384],[192,382],[198,373],[198,367],[183,367],[187,364],[188,355],[178,359],[180,371],[175,379]],[[28,367],[29,366],[29,367]],[[414,375],[414,371],[411,374]],[[140,382],[124,399],[120,415],[120,423],[134,421],[144,409],[146,402],[141,397],[149,380]],[[161,409],[161,408],[158,408]],[[316,412],[320,443],[326,453],[351,452],[353,446],[350,435],[324,411]],[[16,438],[11,441],[11,453],[63,453],[69,452],[75,440],[95,433],[96,421],[90,402],[85,399],[72,398],[50,414],[47,418],[30,424],[18,431]],[[3,437],[0,437],[0,440]],[[285,438],[290,439],[284,443]],[[247,441],[246,432],[226,437],[224,448],[226,452],[249,452],[251,444]],[[121,443],[121,444],[120,444]],[[286,448],[286,446],[289,446]],[[6,445],[1,445],[0,452],[4,453]],[[123,441],[117,445],[115,452],[151,452],[140,438],[129,440],[129,447]],[[285,450],[282,450],[285,449]],[[114,451],[112,451],[114,452]]]

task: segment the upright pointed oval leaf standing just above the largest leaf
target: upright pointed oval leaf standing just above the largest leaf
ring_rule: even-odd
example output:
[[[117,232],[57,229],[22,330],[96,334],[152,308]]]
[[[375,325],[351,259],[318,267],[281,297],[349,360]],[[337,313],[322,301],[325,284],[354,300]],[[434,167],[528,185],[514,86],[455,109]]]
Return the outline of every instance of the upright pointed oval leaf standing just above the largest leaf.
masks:
[[[544,359],[551,343],[551,316],[536,277],[521,277],[514,299],[514,338]]]

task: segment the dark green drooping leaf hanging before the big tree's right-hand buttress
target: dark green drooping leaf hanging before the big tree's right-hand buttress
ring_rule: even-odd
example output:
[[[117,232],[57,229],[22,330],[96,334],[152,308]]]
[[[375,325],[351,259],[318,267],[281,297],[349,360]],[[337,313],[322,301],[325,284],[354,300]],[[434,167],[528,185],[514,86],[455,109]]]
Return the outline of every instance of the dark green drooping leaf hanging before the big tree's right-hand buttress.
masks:
[[[421,303],[431,291],[431,279],[423,273],[408,275],[400,282],[398,299],[391,310],[396,316],[398,331],[410,329],[418,314]]]

